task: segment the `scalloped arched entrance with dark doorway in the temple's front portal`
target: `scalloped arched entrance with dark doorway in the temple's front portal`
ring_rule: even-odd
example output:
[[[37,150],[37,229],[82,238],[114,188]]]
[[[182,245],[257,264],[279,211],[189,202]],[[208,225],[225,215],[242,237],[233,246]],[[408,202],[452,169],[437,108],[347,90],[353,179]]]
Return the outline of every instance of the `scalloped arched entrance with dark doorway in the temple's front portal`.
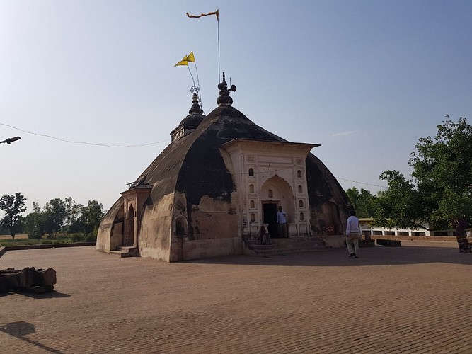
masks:
[[[295,222],[292,187],[283,178],[275,175],[263,183],[259,195],[263,205],[263,219],[261,221],[268,224],[267,232],[270,236],[277,237],[278,207],[282,206],[287,212],[287,222]]]

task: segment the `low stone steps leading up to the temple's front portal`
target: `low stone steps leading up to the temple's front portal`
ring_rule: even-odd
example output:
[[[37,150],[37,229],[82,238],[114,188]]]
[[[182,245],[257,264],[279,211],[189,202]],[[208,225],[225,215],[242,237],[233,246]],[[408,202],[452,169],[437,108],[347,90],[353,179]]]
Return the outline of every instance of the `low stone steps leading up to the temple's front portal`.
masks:
[[[275,256],[289,253],[316,252],[330,249],[326,242],[317,237],[294,236],[289,239],[272,239],[272,244],[260,244],[259,240],[248,239],[244,241],[248,249],[254,251],[259,256]]]

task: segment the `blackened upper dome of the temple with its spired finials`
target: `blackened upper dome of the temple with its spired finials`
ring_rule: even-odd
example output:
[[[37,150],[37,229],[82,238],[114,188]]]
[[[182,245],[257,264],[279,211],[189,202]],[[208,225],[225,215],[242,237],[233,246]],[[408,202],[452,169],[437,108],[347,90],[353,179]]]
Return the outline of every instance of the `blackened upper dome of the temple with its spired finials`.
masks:
[[[153,186],[147,205],[173,192],[185,193],[188,202],[194,205],[205,195],[230,201],[236,186],[221,156],[221,146],[234,139],[287,143],[287,140],[256,125],[232,107],[233,100],[229,91],[236,91],[236,87],[227,89],[226,82],[218,87],[219,106],[205,117],[201,115],[202,111],[195,107],[194,95],[190,115],[184,118],[180,125],[193,124],[196,125],[195,130],[191,134],[173,139],[137,178],[137,181],[145,179],[146,184]],[[326,179],[336,184],[338,182],[313,154],[307,156],[306,173],[307,180],[313,185],[313,188],[309,188],[309,199],[321,198],[320,202],[328,200],[333,193]]]

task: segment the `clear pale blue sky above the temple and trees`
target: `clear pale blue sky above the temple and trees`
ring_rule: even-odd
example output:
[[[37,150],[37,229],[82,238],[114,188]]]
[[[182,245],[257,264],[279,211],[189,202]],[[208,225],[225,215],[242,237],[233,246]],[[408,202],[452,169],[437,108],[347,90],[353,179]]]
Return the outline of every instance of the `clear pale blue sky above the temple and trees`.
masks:
[[[217,20],[185,13],[217,8],[234,107],[321,144],[345,189],[409,176],[444,115],[472,122],[470,0],[0,0],[0,140],[21,136],[0,144],[0,195],[23,193],[28,212],[69,196],[108,210],[188,115],[192,79],[174,64],[190,51],[215,108]]]

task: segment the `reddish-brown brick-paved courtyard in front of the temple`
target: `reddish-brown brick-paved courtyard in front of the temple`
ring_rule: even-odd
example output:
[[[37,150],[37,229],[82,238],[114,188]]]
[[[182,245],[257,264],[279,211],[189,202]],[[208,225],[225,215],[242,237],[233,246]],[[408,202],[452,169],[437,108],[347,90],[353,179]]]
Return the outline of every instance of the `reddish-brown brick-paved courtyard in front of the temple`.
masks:
[[[160,263],[8,251],[56,292],[0,296],[0,353],[472,353],[472,254],[452,242]]]

